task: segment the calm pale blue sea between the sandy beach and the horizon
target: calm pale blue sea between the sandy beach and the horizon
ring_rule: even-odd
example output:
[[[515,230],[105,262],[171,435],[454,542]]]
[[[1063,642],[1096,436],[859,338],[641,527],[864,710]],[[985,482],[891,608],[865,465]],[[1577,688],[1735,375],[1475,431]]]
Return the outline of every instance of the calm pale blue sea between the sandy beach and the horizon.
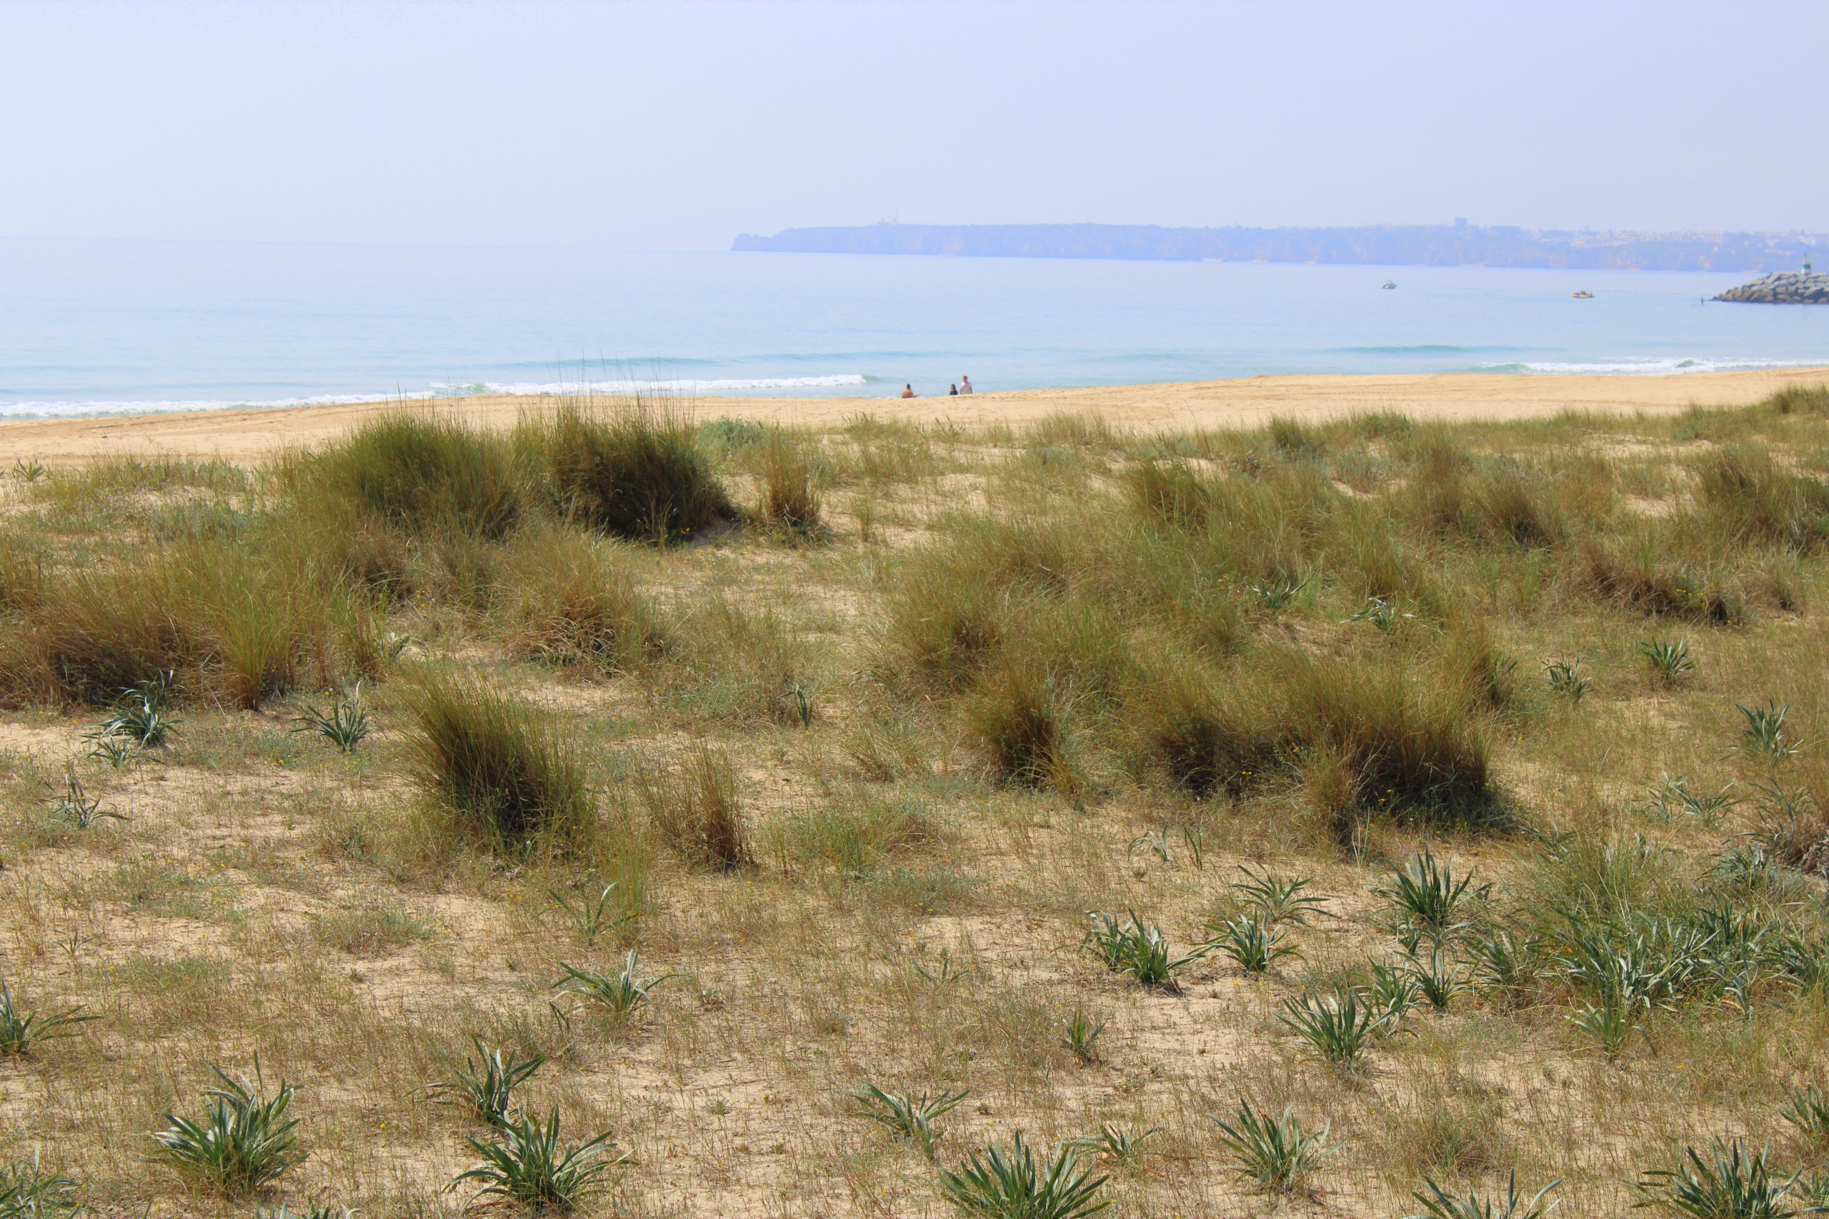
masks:
[[[0,239],[0,417],[1829,364],[1829,309],[1703,303],[1747,278]]]

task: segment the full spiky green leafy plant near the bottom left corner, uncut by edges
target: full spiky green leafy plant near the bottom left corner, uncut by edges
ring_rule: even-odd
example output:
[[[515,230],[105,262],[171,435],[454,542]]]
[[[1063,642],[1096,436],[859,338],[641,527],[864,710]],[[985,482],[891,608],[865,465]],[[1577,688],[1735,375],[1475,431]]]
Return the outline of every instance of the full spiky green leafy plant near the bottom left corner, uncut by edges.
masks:
[[[256,1082],[210,1071],[219,1082],[203,1091],[203,1118],[166,1113],[165,1129],[152,1135],[155,1157],[196,1186],[247,1197],[305,1159],[298,1118],[289,1117],[298,1089],[282,1080],[269,1098]]]

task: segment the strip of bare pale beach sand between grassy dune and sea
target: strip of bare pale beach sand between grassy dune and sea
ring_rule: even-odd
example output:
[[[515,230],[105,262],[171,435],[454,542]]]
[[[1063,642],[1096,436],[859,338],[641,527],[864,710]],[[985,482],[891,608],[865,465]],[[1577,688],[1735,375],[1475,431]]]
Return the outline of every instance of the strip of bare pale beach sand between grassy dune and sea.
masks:
[[[1026,389],[971,398],[699,398],[699,419],[735,417],[810,428],[858,415],[911,422],[1021,424],[1055,411],[1097,413],[1143,431],[1255,426],[1273,415],[1328,419],[1403,411],[1419,419],[1527,419],[1558,411],[1681,411],[1694,404],[1745,406],[1783,386],[1829,382],[1829,367],[1694,373],[1675,376],[1396,375],[1251,376],[1169,386]],[[73,462],[91,457],[223,457],[258,461],[280,448],[346,431],[390,402],[258,411],[196,411],[0,422],[0,462]],[[424,404],[422,404],[424,406]],[[488,424],[512,424],[541,398],[479,397],[428,404]]]

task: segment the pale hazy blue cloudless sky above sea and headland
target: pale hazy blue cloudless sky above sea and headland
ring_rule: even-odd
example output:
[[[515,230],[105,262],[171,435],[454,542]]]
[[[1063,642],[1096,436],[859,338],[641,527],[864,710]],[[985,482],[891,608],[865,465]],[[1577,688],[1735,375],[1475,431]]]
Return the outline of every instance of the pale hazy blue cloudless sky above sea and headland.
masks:
[[[0,0],[0,234],[1825,232],[1825,55],[1824,0]]]

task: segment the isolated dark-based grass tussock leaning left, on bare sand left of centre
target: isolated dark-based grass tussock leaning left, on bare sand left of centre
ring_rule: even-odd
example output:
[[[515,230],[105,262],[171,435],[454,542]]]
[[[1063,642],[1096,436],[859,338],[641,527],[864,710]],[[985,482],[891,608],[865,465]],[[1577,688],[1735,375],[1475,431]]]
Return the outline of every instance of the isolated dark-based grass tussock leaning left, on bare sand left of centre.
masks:
[[[477,678],[428,674],[406,709],[413,779],[485,850],[565,848],[591,824],[583,762],[536,707]]]

